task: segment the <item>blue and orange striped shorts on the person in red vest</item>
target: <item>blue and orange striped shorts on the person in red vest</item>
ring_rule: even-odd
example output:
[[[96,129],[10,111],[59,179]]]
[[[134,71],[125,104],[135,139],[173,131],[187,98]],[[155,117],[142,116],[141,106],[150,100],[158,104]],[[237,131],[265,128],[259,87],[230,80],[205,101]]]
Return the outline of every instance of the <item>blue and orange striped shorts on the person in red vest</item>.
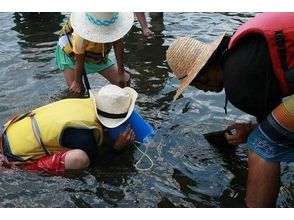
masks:
[[[247,146],[269,161],[294,161],[294,95],[276,107],[248,137]]]

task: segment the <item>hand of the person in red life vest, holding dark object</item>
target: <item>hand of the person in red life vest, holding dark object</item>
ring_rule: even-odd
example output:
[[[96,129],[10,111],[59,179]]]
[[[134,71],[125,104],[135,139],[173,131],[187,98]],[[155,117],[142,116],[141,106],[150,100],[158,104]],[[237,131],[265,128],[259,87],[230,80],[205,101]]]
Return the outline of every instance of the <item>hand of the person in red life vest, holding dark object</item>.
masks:
[[[244,144],[247,141],[247,138],[250,132],[253,130],[251,123],[235,123],[226,128],[226,130],[233,131],[231,134],[229,132],[225,133],[225,137],[229,144],[238,145]]]

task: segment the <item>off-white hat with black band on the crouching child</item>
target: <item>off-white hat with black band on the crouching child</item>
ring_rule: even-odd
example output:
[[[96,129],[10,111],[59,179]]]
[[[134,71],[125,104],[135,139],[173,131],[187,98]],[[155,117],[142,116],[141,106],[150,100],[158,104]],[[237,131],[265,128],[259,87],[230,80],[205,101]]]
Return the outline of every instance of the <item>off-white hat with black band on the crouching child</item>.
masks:
[[[107,128],[115,128],[131,116],[138,96],[134,89],[116,85],[104,86],[90,95],[95,100],[98,120]]]

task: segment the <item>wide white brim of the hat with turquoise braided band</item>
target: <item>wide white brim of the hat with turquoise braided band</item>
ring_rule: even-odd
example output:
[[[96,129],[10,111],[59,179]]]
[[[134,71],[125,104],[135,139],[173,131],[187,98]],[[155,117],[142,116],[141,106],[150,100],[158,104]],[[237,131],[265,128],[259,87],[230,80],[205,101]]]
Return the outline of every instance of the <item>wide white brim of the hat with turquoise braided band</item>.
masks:
[[[117,20],[109,26],[91,24],[85,12],[72,12],[70,20],[74,31],[82,38],[96,43],[109,43],[128,33],[134,23],[134,14],[119,12]]]

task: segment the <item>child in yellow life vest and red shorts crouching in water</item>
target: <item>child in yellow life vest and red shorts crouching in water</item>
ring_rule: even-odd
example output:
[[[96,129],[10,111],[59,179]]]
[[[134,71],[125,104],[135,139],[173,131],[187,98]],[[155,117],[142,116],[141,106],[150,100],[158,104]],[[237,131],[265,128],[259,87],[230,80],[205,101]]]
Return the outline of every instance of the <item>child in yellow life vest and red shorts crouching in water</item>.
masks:
[[[0,163],[54,173],[85,168],[97,159],[102,125],[114,128],[124,123],[136,98],[130,87],[107,85],[95,95],[90,92],[89,98],[64,99],[15,117],[1,135]],[[126,129],[106,157],[111,159],[134,140],[133,130]]]

